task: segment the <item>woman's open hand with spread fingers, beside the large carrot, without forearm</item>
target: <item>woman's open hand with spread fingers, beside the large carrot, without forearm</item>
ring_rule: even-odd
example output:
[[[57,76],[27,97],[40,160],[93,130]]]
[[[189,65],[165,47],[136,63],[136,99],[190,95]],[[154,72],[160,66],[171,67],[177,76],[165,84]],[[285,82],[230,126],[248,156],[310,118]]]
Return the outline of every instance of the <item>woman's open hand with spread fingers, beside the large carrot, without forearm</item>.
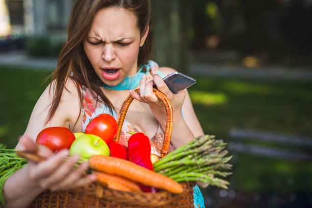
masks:
[[[85,175],[85,171],[88,169],[87,162],[73,170],[74,165],[80,159],[80,155],[73,155],[65,161],[68,157],[68,150],[66,149],[54,154],[47,147],[36,145],[28,137],[23,137],[21,143],[25,150],[46,159],[40,163],[29,161],[29,177],[43,190],[66,190],[83,186],[96,179],[95,175]]]

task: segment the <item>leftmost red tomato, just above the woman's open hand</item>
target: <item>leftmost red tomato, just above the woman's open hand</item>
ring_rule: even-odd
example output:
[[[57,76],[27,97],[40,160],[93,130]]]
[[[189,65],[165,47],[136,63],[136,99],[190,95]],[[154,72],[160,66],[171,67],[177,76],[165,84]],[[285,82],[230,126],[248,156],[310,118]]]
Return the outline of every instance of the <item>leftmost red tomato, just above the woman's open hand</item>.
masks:
[[[42,144],[52,151],[69,149],[75,135],[69,128],[56,126],[44,128],[37,136],[36,143]]]

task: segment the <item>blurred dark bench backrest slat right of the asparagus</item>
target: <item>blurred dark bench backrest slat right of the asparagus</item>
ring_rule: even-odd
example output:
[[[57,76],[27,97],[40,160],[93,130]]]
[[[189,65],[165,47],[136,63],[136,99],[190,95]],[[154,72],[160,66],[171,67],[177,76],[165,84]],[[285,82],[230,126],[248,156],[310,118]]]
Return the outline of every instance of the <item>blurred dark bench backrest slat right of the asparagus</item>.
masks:
[[[233,153],[285,160],[312,161],[312,138],[233,128],[227,148]]]

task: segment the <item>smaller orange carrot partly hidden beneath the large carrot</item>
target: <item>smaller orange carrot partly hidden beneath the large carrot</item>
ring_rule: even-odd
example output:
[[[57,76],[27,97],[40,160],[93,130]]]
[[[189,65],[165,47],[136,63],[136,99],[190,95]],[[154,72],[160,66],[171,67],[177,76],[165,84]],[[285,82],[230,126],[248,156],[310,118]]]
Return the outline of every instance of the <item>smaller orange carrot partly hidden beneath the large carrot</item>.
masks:
[[[101,183],[109,184],[110,181],[115,181],[121,184],[122,186],[130,189],[131,191],[142,191],[140,186],[137,183],[135,183],[132,180],[126,179],[124,177],[120,177],[120,176],[112,175],[108,173],[103,173],[103,172],[97,172],[97,171],[92,171],[92,173],[96,175],[97,182],[100,184]]]

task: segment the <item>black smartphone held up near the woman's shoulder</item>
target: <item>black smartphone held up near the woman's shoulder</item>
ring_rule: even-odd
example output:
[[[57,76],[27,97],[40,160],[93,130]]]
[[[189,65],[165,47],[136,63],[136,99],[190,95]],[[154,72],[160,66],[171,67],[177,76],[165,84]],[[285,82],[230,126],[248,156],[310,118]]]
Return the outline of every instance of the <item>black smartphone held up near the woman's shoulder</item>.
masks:
[[[196,83],[196,80],[192,77],[177,71],[165,76],[163,80],[173,94],[176,94]],[[154,84],[153,88],[157,89],[157,86]]]

